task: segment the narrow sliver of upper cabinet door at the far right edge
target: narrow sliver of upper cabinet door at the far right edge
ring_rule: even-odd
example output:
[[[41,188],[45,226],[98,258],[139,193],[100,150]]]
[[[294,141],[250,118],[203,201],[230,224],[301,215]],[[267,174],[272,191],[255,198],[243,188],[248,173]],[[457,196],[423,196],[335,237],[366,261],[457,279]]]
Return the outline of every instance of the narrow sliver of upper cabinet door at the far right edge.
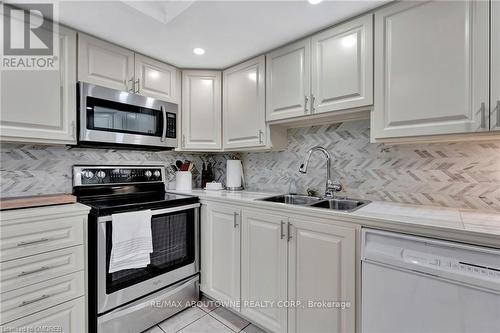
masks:
[[[490,128],[500,130],[500,1],[491,2]]]

